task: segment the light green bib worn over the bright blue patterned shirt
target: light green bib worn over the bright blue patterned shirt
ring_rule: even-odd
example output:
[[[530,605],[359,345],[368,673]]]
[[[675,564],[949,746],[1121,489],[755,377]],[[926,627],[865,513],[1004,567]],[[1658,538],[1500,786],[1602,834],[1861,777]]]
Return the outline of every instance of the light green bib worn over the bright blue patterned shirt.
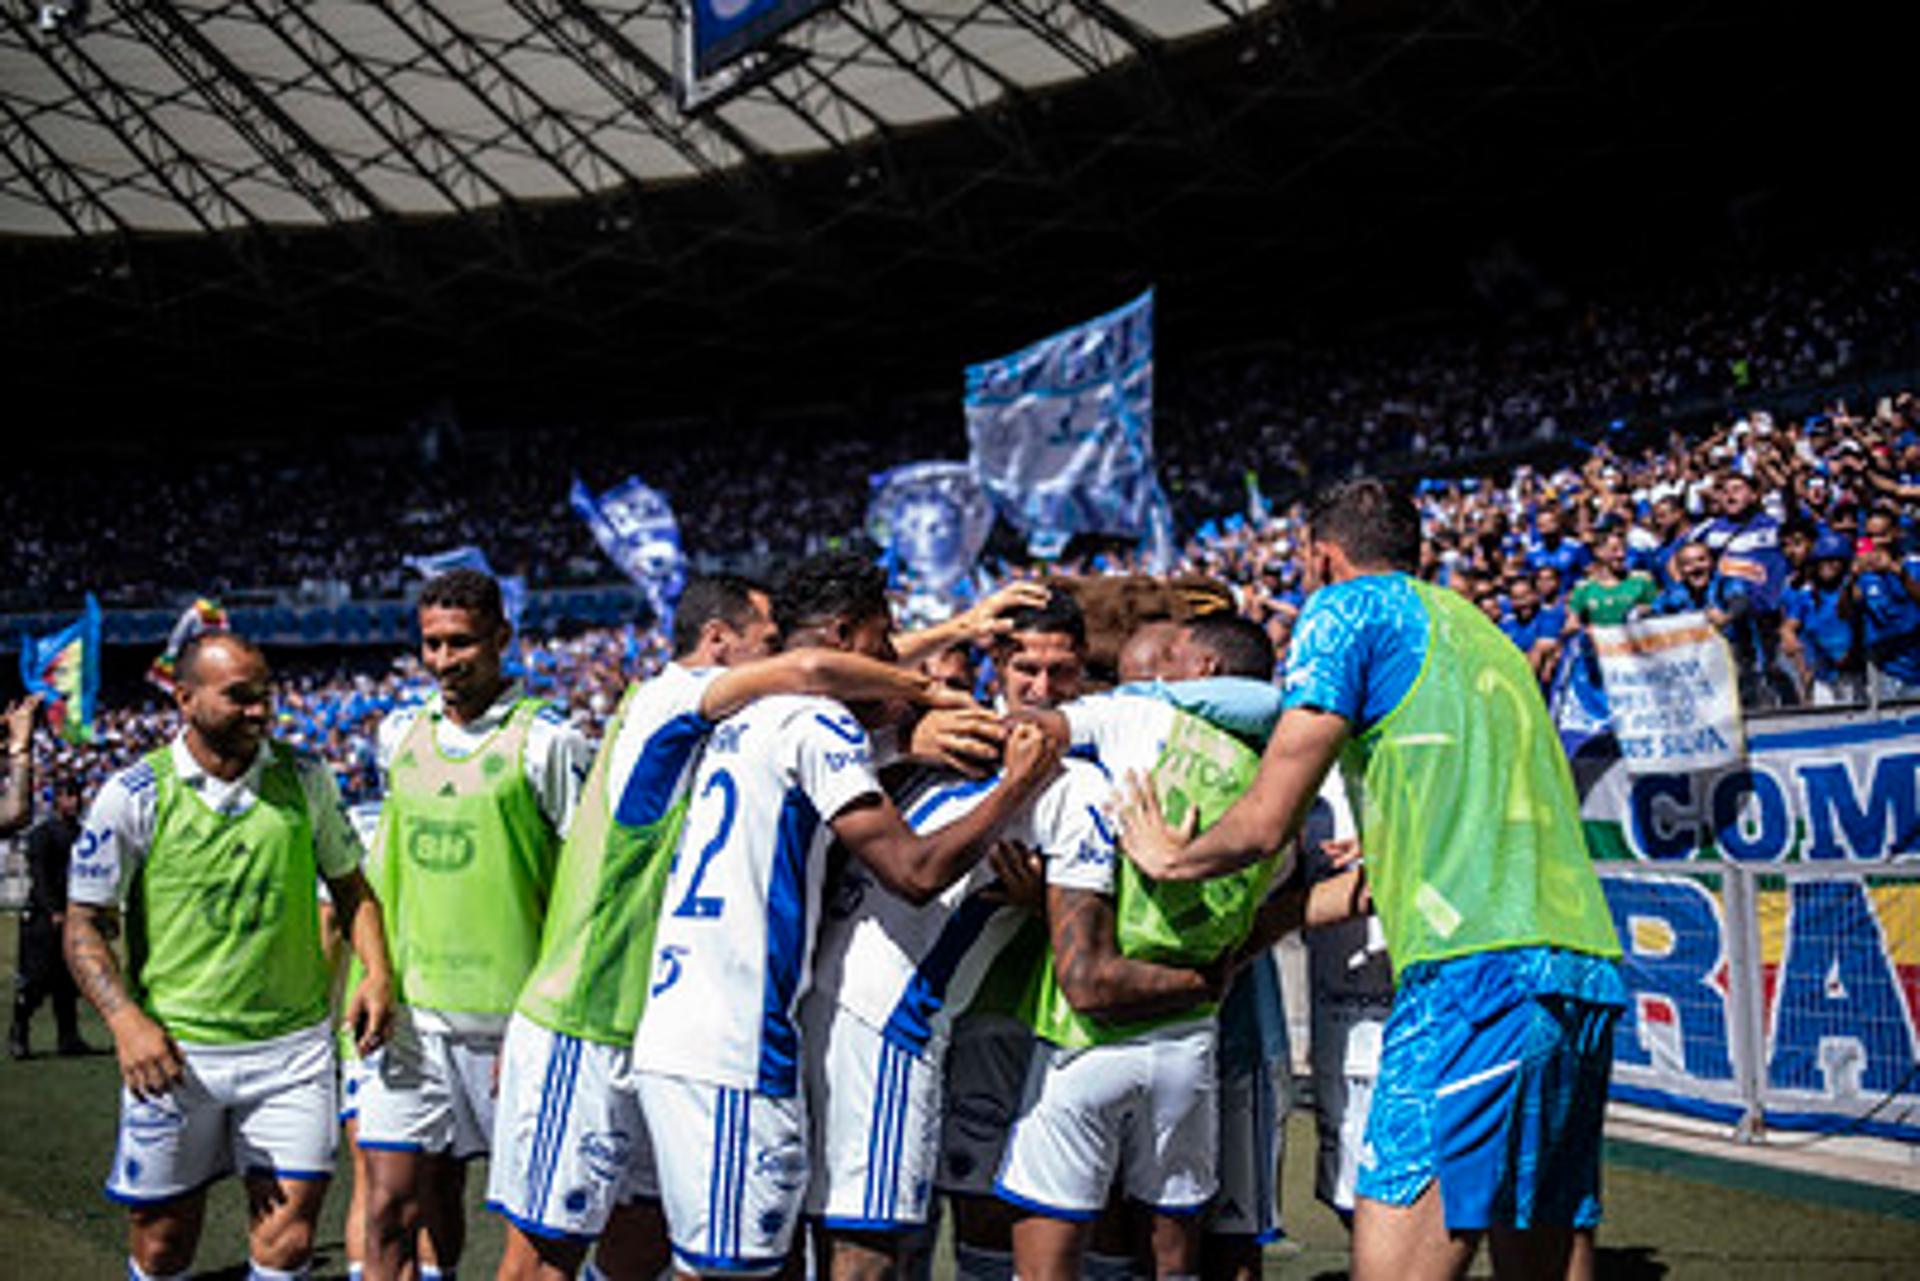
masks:
[[[1503,947],[1619,956],[1532,668],[1465,597],[1411,586],[1427,661],[1342,762],[1394,970]]]

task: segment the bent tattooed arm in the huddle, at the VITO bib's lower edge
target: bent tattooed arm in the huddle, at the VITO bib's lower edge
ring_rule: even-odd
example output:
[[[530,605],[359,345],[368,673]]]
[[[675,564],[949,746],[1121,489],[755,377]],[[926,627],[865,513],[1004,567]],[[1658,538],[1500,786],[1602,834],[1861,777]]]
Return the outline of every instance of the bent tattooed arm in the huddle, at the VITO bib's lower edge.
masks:
[[[1225,966],[1185,970],[1121,956],[1114,935],[1114,901],[1091,889],[1046,887],[1046,930],[1054,978],[1068,1003],[1089,1018],[1131,1022],[1177,1014],[1219,1001]]]

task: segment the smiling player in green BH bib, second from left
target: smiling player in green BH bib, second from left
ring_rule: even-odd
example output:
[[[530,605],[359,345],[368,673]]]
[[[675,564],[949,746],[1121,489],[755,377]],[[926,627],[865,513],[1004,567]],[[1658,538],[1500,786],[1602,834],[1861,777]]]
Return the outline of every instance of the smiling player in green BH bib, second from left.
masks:
[[[540,951],[561,834],[591,764],[564,716],[503,672],[499,584],[457,568],[420,590],[422,707],[380,724],[380,901],[401,1018],[359,1093],[365,1275],[451,1275],[463,1160],[492,1143],[507,1016]],[[413,1271],[424,1223],[438,1268]]]

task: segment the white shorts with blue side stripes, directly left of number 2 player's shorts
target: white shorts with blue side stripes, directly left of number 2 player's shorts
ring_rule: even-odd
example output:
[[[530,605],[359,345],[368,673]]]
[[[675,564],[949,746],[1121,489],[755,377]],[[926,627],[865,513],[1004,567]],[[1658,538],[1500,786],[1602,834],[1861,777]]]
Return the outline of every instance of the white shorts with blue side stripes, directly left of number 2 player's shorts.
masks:
[[[507,1024],[486,1204],[530,1237],[593,1241],[614,1206],[659,1196],[628,1079],[632,1045]]]

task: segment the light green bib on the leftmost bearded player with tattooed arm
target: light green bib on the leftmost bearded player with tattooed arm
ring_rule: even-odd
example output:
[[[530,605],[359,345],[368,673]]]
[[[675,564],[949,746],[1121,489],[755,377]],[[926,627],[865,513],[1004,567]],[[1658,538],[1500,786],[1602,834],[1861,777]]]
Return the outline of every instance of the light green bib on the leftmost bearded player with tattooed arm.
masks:
[[[326,1018],[313,816],[292,749],[273,743],[259,799],[219,814],[154,768],[154,845],[127,903],[132,997],[180,1041],[269,1041]]]

